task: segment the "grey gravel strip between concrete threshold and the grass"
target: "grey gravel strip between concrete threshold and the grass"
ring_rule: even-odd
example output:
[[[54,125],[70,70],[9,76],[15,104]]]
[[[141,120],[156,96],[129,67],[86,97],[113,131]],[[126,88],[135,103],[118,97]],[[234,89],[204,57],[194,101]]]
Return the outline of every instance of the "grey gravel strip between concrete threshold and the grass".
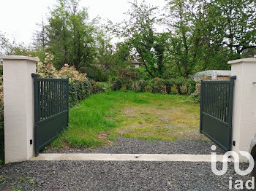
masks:
[[[211,141],[153,141],[149,142],[145,139],[130,139],[119,137],[111,143],[111,145],[99,147],[97,149],[48,149],[43,153],[140,153],[140,154],[190,154],[190,155],[210,155],[211,145],[214,143]],[[217,147],[217,154],[222,155],[224,152]]]

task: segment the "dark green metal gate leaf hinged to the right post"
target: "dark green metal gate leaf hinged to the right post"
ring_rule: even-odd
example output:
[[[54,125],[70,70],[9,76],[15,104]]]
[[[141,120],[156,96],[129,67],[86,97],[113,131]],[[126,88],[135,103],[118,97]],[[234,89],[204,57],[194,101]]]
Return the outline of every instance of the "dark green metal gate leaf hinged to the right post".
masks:
[[[227,81],[201,82],[200,133],[225,151],[231,149],[235,79],[230,77]]]

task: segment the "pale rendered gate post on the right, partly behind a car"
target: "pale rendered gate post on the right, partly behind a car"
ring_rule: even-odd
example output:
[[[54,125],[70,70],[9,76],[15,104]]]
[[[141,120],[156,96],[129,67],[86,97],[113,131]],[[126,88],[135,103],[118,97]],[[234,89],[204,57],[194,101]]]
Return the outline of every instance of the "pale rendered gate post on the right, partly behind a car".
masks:
[[[232,76],[237,77],[233,98],[232,150],[249,152],[250,142],[256,134],[256,58],[228,63],[231,64]]]

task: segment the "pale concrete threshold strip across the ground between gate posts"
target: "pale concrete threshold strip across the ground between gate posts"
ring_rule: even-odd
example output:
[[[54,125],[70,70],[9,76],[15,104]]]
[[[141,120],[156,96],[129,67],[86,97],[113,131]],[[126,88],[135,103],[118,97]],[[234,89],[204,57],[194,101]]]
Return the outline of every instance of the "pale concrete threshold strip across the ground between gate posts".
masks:
[[[223,155],[216,155],[222,162]],[[39,154],[30,160],[97,160],[97,161],[159,161],[159,162],[211,162],[211,155],[167,155],[167,154],[101,154],[101,153],[54,153]],[[231,158],[229,162],[233,162]]]

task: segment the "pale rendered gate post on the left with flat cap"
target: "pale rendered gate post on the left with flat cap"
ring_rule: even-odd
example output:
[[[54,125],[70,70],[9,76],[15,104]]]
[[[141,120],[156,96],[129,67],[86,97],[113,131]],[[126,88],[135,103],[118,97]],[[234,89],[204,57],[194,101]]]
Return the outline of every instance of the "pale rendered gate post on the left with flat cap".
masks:
[[[4,61],[5,163],[34,156],[34,84],[38,58],[0,56]],[[31,144],[32,141],[32,144]]]

